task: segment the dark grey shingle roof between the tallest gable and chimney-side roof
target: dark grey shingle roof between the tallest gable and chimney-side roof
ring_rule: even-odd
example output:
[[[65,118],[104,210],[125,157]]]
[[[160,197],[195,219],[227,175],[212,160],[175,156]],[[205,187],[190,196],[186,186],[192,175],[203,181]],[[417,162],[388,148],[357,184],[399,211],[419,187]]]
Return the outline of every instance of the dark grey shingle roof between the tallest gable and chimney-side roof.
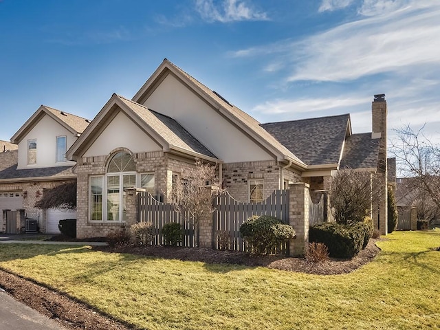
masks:
[[[261,127],[309,166],[338,166],[344,140],[351,135],[349,114],[270,122]]]

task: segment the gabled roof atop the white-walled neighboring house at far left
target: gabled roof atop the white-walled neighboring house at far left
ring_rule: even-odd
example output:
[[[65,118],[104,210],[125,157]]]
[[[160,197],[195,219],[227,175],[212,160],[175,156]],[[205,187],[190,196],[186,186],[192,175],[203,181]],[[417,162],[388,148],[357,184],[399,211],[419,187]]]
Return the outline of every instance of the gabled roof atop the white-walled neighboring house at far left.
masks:
[[[49,115],[50,118],[61,124],[68,131],[74,135],[80,135],[89,126],[90,121],[78,117],[78,115],[72,115],[64,111],[60,111],[45,105],[41,105],[37,111],[21,126],[19,131],[11,137],[11,142],[19,144],[23,137],[43,118],[45,115]]]

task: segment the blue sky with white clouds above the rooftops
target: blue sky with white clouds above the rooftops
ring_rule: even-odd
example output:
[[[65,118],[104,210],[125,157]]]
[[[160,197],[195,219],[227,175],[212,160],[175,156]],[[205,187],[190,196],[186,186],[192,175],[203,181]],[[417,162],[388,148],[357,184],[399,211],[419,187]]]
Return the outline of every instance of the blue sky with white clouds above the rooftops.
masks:
[[[93,119],[163,58],[260,122],[371,131],[384,93],[390,129],[440,140],[438,0],[0,0],[0,140],[40,104]]]

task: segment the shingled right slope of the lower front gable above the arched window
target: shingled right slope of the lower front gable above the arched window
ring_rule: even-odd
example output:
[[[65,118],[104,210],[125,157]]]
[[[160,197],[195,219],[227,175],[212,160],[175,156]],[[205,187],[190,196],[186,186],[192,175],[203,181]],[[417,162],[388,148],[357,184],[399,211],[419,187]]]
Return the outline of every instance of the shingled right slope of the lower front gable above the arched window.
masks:
[[[199,153],[208,157],[217,158],[206,146],[193,137],[184,127],[173,118],[157,113],[142,104],[117,96],[134,111],[144,122],[161,136],[170,146],[177,146],[192,153]]]

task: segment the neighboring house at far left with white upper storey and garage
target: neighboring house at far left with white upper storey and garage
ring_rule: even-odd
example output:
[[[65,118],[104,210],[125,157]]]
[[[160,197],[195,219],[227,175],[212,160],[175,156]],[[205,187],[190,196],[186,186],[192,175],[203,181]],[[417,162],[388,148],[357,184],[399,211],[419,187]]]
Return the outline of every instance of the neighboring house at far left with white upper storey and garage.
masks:
[[[0,153],[0,230],[20,232],[25,219],[34,219],[42,232],[56,233],[59,219],[76,217],[72,212],[39,210],[34,203],[45,189],[76,181],[72,172],[76,163],[65,153],[88,124],[84,118],[42,105],[14,134],[12,144],[3,144],[11,151]]]

